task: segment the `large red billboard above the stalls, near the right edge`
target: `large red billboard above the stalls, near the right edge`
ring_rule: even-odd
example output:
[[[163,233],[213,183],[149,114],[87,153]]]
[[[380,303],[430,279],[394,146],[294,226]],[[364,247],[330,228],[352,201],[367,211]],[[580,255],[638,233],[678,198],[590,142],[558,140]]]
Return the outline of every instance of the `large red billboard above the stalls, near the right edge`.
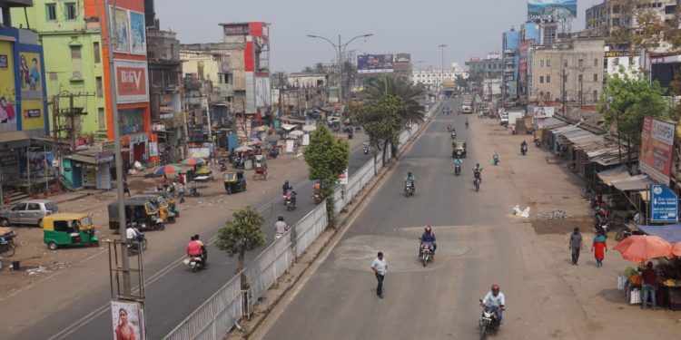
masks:
[[[676,126],[650,117],[643,120],[641,132],[641,171],[659,183],[669,183]]]

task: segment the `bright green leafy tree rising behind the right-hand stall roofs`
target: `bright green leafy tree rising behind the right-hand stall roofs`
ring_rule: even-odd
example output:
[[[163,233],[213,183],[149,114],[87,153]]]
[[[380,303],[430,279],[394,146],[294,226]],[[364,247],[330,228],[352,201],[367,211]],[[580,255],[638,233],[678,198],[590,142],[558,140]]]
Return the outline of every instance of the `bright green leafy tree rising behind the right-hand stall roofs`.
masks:
[[[659,83],[648,83],[641,76],[627,77],[615,74],[608,76],[605,89],[598,98],[597,110],[606,119],[608,127],[617,123],[617,135],[631,144],[641,145],[643,118],[657,119],[667,117],[667,102],[664,90]],[[631,154],[627,154],[630,160]]]

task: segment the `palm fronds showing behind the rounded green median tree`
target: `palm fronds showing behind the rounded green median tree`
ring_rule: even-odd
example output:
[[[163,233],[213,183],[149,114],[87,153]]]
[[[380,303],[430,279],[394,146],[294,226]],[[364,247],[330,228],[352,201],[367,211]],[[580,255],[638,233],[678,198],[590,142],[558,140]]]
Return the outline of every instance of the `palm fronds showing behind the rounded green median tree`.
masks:
[[[381,75],[367,79],[364,96],[367,100],[375,100],[386,95],[400,97],[404,102],[405,120],[423,122],[425,108],[419,102],[423,89],[414,85],[410,79],[395,75]]]

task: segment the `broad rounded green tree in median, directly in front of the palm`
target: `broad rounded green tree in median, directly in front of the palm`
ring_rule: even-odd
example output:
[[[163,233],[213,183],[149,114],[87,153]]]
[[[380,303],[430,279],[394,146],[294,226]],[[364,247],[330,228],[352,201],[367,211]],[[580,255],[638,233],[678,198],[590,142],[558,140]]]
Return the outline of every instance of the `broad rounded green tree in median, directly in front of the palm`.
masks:
[[[383,151],[384,163],[389,143],[393,146],[393,155],[397,152],[400,131],[407,122],[406,110],[406,105],[400,97],[389,94],[366,103],[357,115],[364,131],[369,134],[371,145]]]

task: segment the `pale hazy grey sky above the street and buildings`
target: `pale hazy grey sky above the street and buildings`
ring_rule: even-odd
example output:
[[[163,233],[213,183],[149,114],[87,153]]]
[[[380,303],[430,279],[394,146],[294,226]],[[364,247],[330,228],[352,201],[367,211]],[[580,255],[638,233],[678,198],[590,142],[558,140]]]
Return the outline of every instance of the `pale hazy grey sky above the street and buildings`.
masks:
[[[578,0],[572,30],[584,29],[587,7],[602,0]],[[271,24],[271,71],[298,72],[335,60],[331,44],[306,34],[343,43],[357,53],[411,53],[415,67],[440,67],[439,44],[447,44],[445,64],[499,52],[501,33],[527,18],[527,0],[156,0],[164,30],[183,44],[222,41],[219,23],[263,21]],[[423,63],[418,63],[423,61]]]

